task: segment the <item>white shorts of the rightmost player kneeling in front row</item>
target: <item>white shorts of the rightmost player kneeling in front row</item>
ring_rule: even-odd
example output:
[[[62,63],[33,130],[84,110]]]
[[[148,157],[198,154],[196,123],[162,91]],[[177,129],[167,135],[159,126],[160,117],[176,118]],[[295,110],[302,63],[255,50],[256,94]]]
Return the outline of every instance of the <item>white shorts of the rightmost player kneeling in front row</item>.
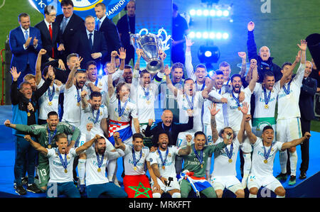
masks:
[[[282,187],[282,184],[273,175],[255,176],[250,174],[247,178],[247,189],[260,189],[260,187],[266,187],[267,189],[274,191],[277,187]]]

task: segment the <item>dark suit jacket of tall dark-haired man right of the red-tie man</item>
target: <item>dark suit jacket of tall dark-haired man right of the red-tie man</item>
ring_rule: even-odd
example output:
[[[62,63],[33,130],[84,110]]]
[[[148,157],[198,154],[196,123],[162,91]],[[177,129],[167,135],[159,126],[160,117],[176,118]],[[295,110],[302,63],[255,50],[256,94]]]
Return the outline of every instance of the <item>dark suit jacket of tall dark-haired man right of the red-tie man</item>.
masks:
[[[60,14],[55,19],[55,22],[58,24],[59,28],[63,21],[63,17],[63,14]],[[73,53],[71,51],[71,45],[73,43],[75,35],[80,31],[85,31],[85,21],[83,21],[80,16],[77,16],[75,13],[73,13],[67,26],[65,26],[65,30],[63,31],[63,33],[61,30],[59,30],[60,43],[63,43],[63,45],[65,46],[65,50],[62,52],[63,62],[66,62],[67,56],[70,53]]]

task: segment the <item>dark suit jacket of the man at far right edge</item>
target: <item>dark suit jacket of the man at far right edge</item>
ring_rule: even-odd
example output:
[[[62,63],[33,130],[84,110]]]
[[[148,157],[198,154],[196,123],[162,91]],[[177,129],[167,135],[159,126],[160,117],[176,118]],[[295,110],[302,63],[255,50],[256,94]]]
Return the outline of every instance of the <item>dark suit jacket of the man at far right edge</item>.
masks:
[[[316,94],[316,79],[311,77],[303,79],[299,96],[299,108],[301,116],[309,121],[314,119],[314,94]]]

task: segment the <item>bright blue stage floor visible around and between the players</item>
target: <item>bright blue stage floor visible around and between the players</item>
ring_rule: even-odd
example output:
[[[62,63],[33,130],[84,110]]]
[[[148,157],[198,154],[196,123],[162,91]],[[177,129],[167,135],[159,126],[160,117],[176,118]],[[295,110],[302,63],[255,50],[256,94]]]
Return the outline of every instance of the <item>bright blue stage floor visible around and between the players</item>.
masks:
[[[15,155],[15,145],[14,145],[14,137],[11,134],[11,128],[7,128],[4,126],[4,121],[6,119],[11,120],[12,113],[11,113],[11,106],[0,106],[0,197],[19,197],[14,190],[14,155]],[[307,172],[307,178],[311,177],[312,175],[316,174],[320,171],[320,133],[311,132],[311,139],[310,139],[310,146],[309,146],[309,155],[310,155],[310,162],[309,162],[309,170]],[[302,184],[306,179],[301,180],[299,179],[299,167],[301,164],[301,151],[300,146],[297,146],[297,154],[298,154],[298,163],[297,163],[297,184],[294,186],[289,186],[289,177],[287,182],[284,182],[282,185],[285,189],[294,189],[294,187],[299,186]],[[118,171],[117,171],[117,178],[120,182],[122,182],[122,158],[118,159]],[[241,179],[240,176],[240,157],[237,160],[237,173],[238,179]],[[211,164],[211,172],[213,170],[213,164]],[[281,172],[279,166],[279,153],[274,160],[274,176],[277,176]],[[307,189],[307,188],[306,188]],[[309,189],[312,189],[309,188]],[[307,192],[307,191],[306,191]],[[316,191],[315,191],[316,192]],[[46,194],[33,194],[28,192],[27,195],[21,197],[45,197]],[[292,194],[290,195],[292,196]]]

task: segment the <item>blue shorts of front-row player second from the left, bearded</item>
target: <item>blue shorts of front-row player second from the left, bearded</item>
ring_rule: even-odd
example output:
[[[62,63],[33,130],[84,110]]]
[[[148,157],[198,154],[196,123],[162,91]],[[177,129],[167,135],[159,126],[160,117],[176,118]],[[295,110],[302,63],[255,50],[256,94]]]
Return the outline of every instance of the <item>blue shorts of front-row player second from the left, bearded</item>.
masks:
[[[97,198],[101,194],[106,194],[113,198],[127,198],[127,193],[112,182],[105,184],[92,184],[87,186],[87,198]]]

